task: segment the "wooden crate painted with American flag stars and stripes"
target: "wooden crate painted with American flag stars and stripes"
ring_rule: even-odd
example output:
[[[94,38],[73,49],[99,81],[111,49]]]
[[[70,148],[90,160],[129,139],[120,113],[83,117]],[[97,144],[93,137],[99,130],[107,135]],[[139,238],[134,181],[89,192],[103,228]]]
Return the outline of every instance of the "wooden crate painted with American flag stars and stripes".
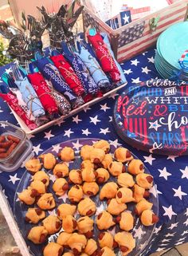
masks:
[[[122,62],[155,45],[160,33],[172,24],[186,20],[188,0],[171,0],[171,2],[172,4],[162,10],[116,30],[112,30],[93,14],[92,10],[85,7],[83,11],[84,30],[91,25],[99,31],[108,33],[115,56],[119,62]],[[151,30],[151,24],[156,18],[159,18],[156,30]]]

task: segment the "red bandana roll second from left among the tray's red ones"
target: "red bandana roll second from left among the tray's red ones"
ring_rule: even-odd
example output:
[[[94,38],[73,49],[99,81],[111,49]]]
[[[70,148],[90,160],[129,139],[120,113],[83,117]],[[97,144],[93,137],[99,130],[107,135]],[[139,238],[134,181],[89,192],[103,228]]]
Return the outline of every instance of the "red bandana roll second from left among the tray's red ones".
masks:
[[[51,96],[51,90],[46,84],[46,81],[44,77],[42,77],[41,73],[30,73],[28,74],[28,78],[33,86],[33,89],[37,93],[41,104],[45,108],[45,111],[49,112],[51,115],[58,113],[56,101],[53,99],[53,96]]]

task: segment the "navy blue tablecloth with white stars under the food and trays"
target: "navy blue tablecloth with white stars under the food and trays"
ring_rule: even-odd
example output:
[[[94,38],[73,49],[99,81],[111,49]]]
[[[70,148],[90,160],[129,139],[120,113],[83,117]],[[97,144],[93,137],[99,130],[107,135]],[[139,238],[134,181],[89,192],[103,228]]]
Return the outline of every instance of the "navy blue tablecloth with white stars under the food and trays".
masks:
[[[155,49],[134,57],[130,61],[121,64],[123,72],[127,77],[128,85],[132,86],[140,81],[159,77],[154,65]],[[0,69],[2,72],[10,72],[7,65]],[[0,80],[2,83],[2,80]],[[112,124],[113,107],[116,100],[114,94],[100,103],[85,108],[84,111],[70,117],[64,122],[57,124],[35,136],[29,136],[33,143],[33,152],[38,155],[45,149],[56,145],[54,151],[59,151],[59,143],[76,138],[99,137],[109,140],[111,144],[118,147],[123,144],[138,156],[146,164],[151,174],[154,175],[155,184],[159,195],[159,217],[160,222],[155,228],[150,244],[144,250],[143,255],[164,250],[182,242],[188,242],[188,157],[187,156],[157,156],[147,152],[137,151],[123,143],[116,134]],[[17,124],[6,103],[0,99],[0,120],[7,120]],[[24,169],[20,168],[13,173],[2,172],[0,183],[3,191],[13,207],[14,192],[22,178]],[[155,191],[153,191],[155,195]],[[156,196],[156,195],[155,195]],[[138,230],[137,235],[142,235]]]

